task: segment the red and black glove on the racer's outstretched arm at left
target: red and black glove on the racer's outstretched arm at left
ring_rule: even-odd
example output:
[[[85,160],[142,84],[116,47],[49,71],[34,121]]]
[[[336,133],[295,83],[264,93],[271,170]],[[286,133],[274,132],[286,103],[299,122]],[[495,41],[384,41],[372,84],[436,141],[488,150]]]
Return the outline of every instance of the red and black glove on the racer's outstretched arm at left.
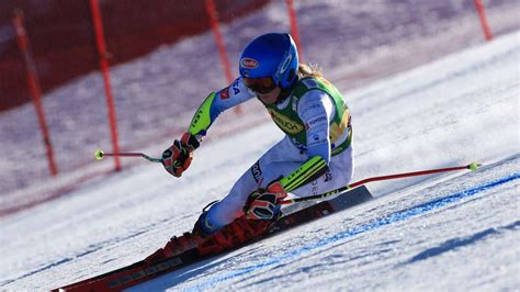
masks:
[[[181,141],[176,139],[173,145],[162,153],[162,166],[174,177],[182,176],[193,160],[193,150],[199,147],[199,141],[190,133],[184,133]]]

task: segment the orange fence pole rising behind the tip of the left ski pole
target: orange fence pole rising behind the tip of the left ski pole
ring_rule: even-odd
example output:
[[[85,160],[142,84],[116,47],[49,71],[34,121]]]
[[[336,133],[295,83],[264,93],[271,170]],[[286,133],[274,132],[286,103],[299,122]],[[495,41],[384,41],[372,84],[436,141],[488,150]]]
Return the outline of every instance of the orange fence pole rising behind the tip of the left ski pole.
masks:
[[[110,85],[110,68],[106,58],[106,44],[104,41],[103,20],[98,0],[90,0],[90,9],[92,11],[92,22],[94,24],[95,42],[98,44],[98,53],[100,55],[100,68],[103,75],[104,92],[106,97],[106,105],[109,108],[109,122],[112,135],[112,148],[115,154],[120,153],[120,143],[117,138],[117,119],[115,115],[114,97]],[[121,170],[121,160],[118,156],[114,156],[115,170]]]

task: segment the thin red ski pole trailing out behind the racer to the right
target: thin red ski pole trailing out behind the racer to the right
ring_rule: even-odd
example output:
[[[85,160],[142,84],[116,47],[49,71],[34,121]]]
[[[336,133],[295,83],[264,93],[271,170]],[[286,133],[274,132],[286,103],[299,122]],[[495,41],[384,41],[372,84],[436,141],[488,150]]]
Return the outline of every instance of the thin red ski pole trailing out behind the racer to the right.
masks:
[[[414,171],[414,172],[405,172],[405,173],[397,173],[397,175],[389,175],[389,176],[382,176],[382,177],[373,177],[373,178],[368,178],[360,180],[358,182],[343,186],[341,188],[338,188],[336,190],[331,190],[326,193],[320,193],[316,195],[309,195],[309,196],[304,196],[304,198],[296,198],[296,199],[291,199],[291,200],[284,200],[280,202],[280,204],[292,204],[292,203],[297,203],[297,202],[303,202],[303,201],[309,201],[309,200],[318,200],[318,199],[324,199],[330,195],[335,195],[337,193],[360,187],[362,184],[365,184],[368,182],[372,181],[380,181],[380,180],[389,180],[389,179],[400,179],[400,178],[408,178],[408,177],[418,177],[418,176],[426,176],[426,175],[432,175],[432,173],[439,173],[439,172],[448,172],[448,171],[456,171],[456,170],[463,170],[463,169],[470,169],[472,171],[477,170],[482,165],[477,162],[472,162],[467,166],[457,166],[457,167],[448,167],[448,168],[438,168],[438,169],[430,169],[430,170],[422,170],[422,171]]]

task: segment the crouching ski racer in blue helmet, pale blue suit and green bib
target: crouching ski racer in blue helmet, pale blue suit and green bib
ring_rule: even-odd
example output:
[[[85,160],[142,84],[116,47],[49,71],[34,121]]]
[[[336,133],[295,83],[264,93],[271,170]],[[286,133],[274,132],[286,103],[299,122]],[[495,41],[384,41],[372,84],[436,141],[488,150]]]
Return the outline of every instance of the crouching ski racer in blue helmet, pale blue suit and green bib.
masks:
[[[239,72],[230,86],[207,96],[188,132],[163,151],[166,170],[180,177],[216,117],[253,98],[263,103],[285,136],[236,181],[223,200],[203,211],[193,236],[215,235],[225,226],[255,236],[281,216],[279,202],[287,196],[287,189],[305,196],[347,186],[352,178],[349,109],[318,70],[298,64],[290,34],[269,33],[249,43],[240,56]],[[282,186],[283,178],[290,178],[289,186]]]

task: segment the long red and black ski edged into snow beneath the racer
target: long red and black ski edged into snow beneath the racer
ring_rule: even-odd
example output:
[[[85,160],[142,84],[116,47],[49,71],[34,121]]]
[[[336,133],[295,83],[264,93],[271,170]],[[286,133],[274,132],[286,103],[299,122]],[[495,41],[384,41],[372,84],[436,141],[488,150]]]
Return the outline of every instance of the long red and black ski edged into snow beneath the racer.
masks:
[[[145,260],[53,291],[121,291],[191,263],[208,259],[225,250],[242,247],[255,240],[361,204],[371,199],[372,195],[369,190],[362,186],[343,192],[329,201],[293,211],[275,223],[270,223],[267,228],[261,228],[262,226],[259,227],[258,224],[268,223],[238,218],[222,228],[212,238],[205,238],[203,243],[193,239],[190,233],[185,233],[180,237],[173,237],[165,248],[157,250]],[[294,206],[297,205],[294,204]],[[285,209],[284,213],[291,212],[289,211],[291,207]]]

